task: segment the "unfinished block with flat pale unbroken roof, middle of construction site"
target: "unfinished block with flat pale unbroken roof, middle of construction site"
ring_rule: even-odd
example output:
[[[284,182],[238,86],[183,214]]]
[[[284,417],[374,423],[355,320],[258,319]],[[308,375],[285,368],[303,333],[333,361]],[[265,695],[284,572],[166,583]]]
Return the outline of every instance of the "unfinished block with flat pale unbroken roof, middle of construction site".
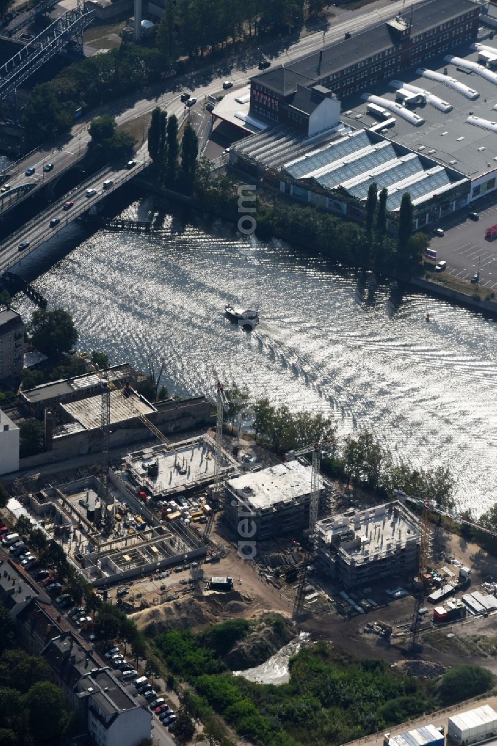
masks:
[[[302,531],[309,525],[312,469],[303,459],[277,464],[226,483],[224,516],[233,530],[244,518],[253,521],[260,541],[291,531]],[[320,500],[328,492],[320,477]]]

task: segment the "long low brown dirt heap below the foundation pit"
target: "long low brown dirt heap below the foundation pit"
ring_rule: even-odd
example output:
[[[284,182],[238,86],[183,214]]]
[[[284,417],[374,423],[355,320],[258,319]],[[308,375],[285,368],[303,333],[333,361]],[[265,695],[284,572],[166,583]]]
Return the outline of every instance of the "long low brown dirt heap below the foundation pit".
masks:
[[[241,595],[238,591],[211,593],[208,596],[189,596],[180,601],[151,606],[130,616],[136,621],[139,630],[147,630],[148,633],[155,635],[173,628],[206,627],[234,615],[247,615],[252,601],[250,595]]]

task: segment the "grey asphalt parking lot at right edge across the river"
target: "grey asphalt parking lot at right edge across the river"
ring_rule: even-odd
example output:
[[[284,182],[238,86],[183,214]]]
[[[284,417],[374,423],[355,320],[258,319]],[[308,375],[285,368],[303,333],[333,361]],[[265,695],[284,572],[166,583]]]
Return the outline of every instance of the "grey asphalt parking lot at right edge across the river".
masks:
[[[478,213],[478,221],[466,217]],[[430,248],[437,251],[437,261],[447,262],[446,274],[460,280],[470,280],[478,268],[478,288],[497,289],[497,241],[487,241],[485,231],[497,224],[497,195],[475,201],[466,213],[461,210],[452,220],[441,222],[445,235],[432,236]]]

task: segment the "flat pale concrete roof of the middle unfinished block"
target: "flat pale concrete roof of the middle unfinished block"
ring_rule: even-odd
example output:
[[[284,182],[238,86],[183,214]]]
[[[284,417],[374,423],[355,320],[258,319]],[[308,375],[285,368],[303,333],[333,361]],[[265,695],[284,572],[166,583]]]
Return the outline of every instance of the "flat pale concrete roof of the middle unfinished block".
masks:
[[[264,510],[310,495],[311,472],[311,466],[294,460],[229,479],[227,486],[253,510]],[[320,489],[323,486],[320,479]]]

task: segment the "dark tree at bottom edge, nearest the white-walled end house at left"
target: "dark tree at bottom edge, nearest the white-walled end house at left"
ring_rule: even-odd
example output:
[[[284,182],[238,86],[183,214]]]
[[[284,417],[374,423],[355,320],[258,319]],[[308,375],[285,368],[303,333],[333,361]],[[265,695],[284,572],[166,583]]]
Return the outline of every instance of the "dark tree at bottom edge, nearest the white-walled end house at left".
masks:
[[[31,686],[24,701],[37,742],[60,743],[69,715],[59,687],[50,681],[39,681]]]

